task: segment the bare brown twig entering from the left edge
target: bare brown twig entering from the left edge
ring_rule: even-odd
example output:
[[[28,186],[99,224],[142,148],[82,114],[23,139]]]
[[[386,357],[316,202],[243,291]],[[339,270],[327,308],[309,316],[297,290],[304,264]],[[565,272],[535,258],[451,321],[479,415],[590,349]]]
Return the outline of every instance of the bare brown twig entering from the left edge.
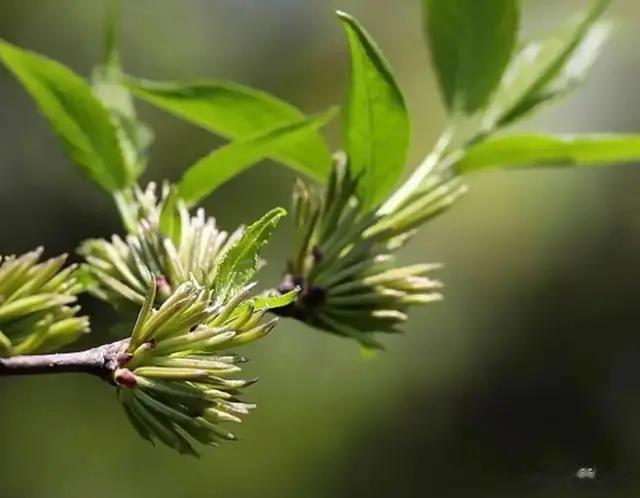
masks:
[[[129,339],[123,339],[74,353],[0,358],[0,376],[87,373],[109,380],[128,344]]]

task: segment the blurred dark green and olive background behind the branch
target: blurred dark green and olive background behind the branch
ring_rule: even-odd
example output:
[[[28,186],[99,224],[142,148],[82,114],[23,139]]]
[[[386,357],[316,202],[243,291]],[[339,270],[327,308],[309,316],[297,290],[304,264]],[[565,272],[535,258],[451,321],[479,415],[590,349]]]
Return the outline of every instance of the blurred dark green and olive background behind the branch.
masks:
[[[443,0],[444,1],[444,0]],[[129,0],[126,69],[215,77],[307,112],[343,99],[348,54],[334,8],[384,48],[414,122],[411,164],[443,124],[417,0]],[[584,4],[525,0],[525,31]],[[83,74],[100,56],[102,0],[1,0],[0,37]],[[586,87],[527,122],[554,131],[640,130],[640,4]],[[177,178],[220,141],[140,106],[154,126],[148,179]],[[328,129],[339,146],[339,124]],[[287,205],[293,175],[265,163],[206,203],[226,228]],[[0,379],[0,497],[511,497],[640,494],[640,168],[486,173],[424,227],[406,262],[441,261],[443,303],[415,310],[387,352],[283,323],[245,353],[258,410],[242,441],[193,460],[152,448],[92,378]],[[110,200],[71,168],[25,92],[0,71],[0,253],[73,252],[120,230]],[[291,226],[260,274],[274,285]],[[113,313],[86,299],[94,334]],[[580,467],[594,480],[578,481]]]

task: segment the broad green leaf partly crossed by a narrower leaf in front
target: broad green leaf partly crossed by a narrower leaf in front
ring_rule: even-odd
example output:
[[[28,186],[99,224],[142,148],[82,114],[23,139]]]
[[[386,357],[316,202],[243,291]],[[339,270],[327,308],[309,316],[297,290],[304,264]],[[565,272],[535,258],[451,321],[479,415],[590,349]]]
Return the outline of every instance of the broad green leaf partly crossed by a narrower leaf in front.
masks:
[[[159,83],[129,79],[137,97],[232,140],[242,140],[304,118],[292,105],[253,88],[225,81]],[[273,156],[291,168],[324,181],[331,154],[317,129],[296,143],[284,144]]]

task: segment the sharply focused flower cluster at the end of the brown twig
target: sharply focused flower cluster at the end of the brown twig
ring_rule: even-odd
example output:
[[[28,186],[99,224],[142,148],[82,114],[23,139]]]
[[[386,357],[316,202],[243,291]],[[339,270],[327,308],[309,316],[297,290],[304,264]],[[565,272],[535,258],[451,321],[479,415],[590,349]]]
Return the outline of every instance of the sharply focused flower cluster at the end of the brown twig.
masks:
[[[252,287],[221,302],[189,281],[156,309],[156,286],[150,286],[113,374],[119,399],[142,437],[194,456],[193,440],[215,446],[235,439],[219,424],[240,422],[254,408],[239,399],[254,380],[233,377],[246,360],[227,350],[266,335],[277,321],[264,321],[266,311],[290,301],[249,299]]]

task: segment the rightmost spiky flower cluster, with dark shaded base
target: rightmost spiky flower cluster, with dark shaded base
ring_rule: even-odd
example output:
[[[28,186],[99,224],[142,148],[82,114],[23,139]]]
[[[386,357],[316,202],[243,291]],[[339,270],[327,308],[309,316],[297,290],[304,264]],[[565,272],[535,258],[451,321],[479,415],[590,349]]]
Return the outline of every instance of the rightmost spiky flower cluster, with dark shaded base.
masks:
[[[324,192],[296,183],[297,239],[279,289],[301,291],[280,312],[377,348],[372,332],[396,332],[409,306],[441,299],[441,283],[429,276],[439,265],[396,267],[393,253],[465,187],[455,177],[433,175],[418,193],[382,215],[362,211],[356,183],[342,155],[336,156]]]

